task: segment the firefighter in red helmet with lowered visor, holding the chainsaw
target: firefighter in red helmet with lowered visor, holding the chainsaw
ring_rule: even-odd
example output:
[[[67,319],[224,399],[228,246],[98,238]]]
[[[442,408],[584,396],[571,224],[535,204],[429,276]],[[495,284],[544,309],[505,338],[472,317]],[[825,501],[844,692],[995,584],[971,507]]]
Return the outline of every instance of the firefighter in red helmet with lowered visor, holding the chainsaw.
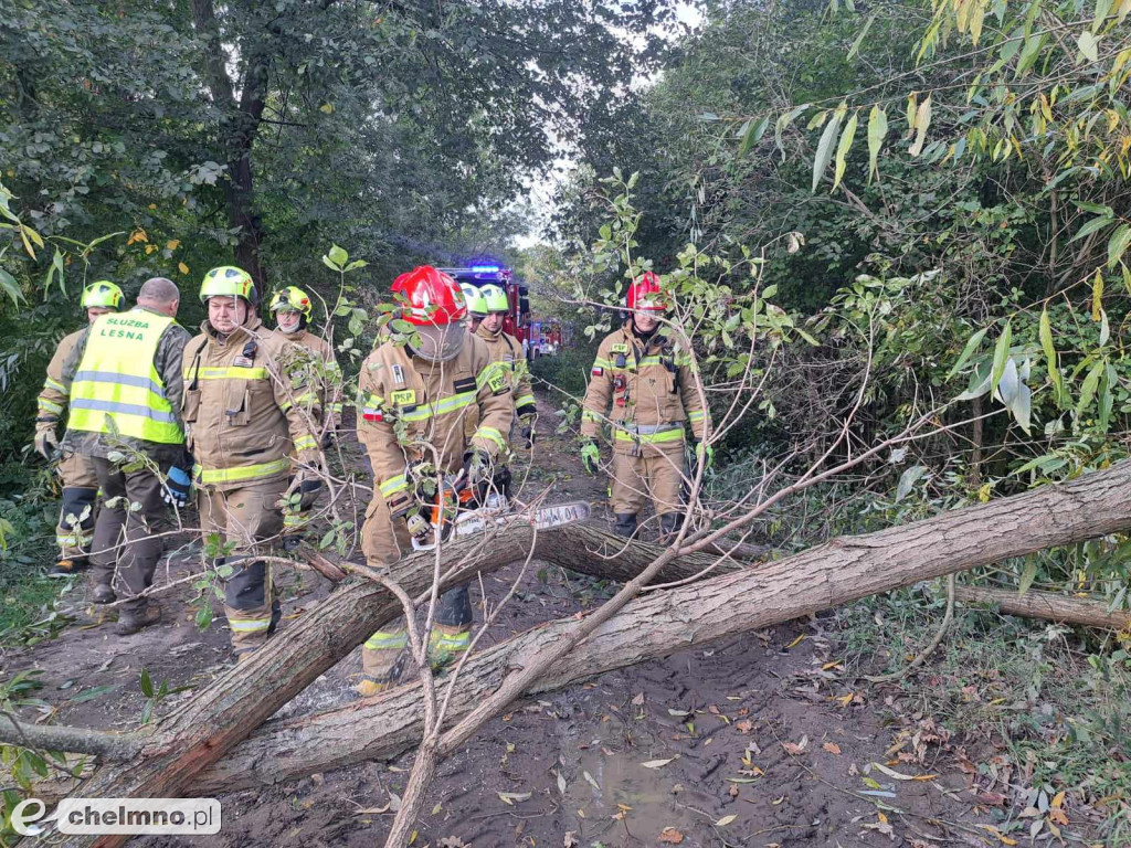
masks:
[[[490,479],[515,415],[507,375],[463,323],[467,306],[456,282],[422,266],[397,277],[392,292],[402,296],[402,318],[413,325],[418,341],[389,339],[361,367],[357,435],[377,490],[365,511],[362,550],[374,568],[409,552],[414,536],[432,535],[428,504],[438,474],[470,487]],[[468,438],[464,417],[470,409],[480,423]],[[467,650],[470,624],[467,587],[444,592],[429,637],[438,668]],[[370,695],[397,685],[407,658],[403,625],[374,633],[362,650],[357,692]]]

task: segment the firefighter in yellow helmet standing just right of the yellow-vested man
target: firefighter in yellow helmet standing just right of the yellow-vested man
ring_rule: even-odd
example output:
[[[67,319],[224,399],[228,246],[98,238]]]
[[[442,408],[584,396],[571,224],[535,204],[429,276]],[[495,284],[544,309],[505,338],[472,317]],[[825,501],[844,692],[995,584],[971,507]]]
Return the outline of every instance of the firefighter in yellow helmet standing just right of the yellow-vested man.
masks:
[[[283,530],[280,501],[318,476],[321,409],[301,375],[283,372],[294,351],[256,314],[251,275],[213,268],[200,300],[208,318],[184,349],[183,417],[205,539],[223,545],[224,614],[242,661],[278,624],[270,569],[258,557]]]

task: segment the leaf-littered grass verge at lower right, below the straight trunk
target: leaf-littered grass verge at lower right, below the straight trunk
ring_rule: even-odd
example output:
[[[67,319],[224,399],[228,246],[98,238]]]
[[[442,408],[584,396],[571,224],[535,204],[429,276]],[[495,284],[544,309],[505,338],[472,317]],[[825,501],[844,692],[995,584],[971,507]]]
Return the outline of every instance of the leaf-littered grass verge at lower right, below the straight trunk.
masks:
[[[941,596],[903,589],[838,611],[845,670],[903,668]],[[1082,825],[1089,843],[1131,845],[1131,658],[1116,637],[959,609],[925,667],[873,701],[893,726],[940,728],[1007,839]]]

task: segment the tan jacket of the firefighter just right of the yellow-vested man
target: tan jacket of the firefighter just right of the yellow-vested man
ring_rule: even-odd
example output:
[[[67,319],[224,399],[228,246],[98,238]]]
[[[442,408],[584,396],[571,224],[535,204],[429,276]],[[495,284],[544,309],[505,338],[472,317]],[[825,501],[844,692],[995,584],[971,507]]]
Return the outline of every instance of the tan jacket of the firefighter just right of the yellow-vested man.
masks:
[[[294,348],[257,317],[221,338],[205,321],[184,349],[182,415],[197,483],[232,490],[291,473],[320,455],[318,392],[279,364]]]

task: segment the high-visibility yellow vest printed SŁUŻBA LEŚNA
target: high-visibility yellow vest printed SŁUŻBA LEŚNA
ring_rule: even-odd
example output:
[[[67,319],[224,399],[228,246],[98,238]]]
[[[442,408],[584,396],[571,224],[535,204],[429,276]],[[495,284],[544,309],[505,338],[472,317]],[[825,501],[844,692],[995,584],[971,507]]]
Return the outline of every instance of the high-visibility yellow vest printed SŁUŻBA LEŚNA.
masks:
[[[71,382],[70,430],[183,444],[165,383],[154,360],[157,341],[174,323],[145,310],[101,315]]]

